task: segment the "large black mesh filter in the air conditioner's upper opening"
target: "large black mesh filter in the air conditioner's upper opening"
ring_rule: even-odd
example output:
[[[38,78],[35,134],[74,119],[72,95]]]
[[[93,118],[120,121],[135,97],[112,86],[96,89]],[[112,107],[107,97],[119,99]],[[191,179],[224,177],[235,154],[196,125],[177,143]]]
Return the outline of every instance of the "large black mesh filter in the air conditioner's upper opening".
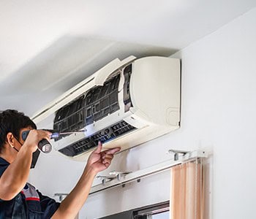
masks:
[[[61,132],[77,131],[119,110],[119,81],[120,74],[116,74],[103,86],[92,88],[62,107],[56,112],[53,129]]]

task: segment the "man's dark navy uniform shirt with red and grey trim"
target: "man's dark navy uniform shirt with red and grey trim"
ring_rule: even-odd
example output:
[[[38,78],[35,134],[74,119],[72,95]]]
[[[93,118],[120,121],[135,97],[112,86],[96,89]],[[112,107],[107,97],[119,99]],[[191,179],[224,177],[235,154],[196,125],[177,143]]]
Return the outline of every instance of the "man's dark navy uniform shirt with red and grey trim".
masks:
[[[0,177],[10,164],[0,158]],[[59,202],[43,196],[33,185],[26,183],[17,196],[10,201],[0,199],[0,219],[50,218],[59,207]]]

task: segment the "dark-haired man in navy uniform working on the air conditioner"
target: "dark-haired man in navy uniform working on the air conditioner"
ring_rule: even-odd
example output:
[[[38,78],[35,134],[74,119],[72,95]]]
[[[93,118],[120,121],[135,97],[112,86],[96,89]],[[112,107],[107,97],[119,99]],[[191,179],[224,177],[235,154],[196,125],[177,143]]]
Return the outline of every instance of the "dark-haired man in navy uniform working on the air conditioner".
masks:
[[[22,112],[0,112],[0,218],[75,218],[89,195],[94,177],[110,166],[120,147],[101,152],[99,142],[77,185],[60,204],[26,183],[38,142],[50,140],[49,131],[36,128]],[[24,142],[21,133],[26,130],[31,131]]]

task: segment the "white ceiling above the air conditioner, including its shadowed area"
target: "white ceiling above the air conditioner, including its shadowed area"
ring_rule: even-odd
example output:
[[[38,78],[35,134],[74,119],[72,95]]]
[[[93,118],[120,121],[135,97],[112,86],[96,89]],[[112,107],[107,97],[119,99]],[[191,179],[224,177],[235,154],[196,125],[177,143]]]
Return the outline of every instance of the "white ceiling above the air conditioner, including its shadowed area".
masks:
[[[114,58],[169,56],[255,0],[0,1],[0,110],[33,115]]]

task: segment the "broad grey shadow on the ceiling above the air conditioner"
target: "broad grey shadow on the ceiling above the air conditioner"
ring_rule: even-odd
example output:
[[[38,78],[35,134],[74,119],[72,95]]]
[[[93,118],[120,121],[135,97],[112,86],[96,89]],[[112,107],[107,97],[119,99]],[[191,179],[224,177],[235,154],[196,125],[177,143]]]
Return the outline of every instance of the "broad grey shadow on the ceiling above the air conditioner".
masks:
[[[166,47],[65,35],[0,82],[1,110],[10,108],[8,99],[14,107],[22,106],[26,99],[34,106],[20,110],[31,114],[115,58],[175,52]]]

